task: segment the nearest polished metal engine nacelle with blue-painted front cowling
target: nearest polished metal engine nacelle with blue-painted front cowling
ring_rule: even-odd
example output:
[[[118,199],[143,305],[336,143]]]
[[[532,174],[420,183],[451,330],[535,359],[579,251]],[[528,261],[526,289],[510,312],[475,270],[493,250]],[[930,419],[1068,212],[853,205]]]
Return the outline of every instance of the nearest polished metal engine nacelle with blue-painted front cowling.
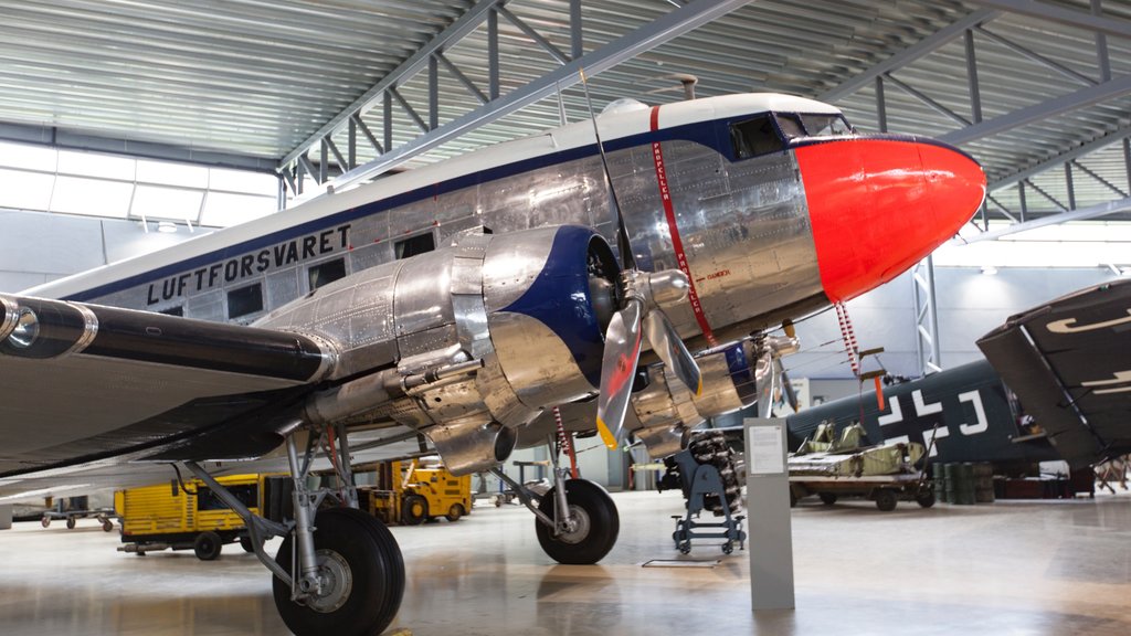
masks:
[[[337,281],[260,325],[328,340],[334,377],[364,376],[320,396],[316,411],[333,413],[321,419],[396,420],[463,474],[506,459],[513,430],[542,410],[597,392],[618,275],[589,227],[468,234]]]

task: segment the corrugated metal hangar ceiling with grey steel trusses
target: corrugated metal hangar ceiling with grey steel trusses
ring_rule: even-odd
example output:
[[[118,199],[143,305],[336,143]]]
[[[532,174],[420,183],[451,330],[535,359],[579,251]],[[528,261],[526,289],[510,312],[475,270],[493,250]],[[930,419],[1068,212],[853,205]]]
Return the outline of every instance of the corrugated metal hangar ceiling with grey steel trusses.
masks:
[[[1131,218],[1128,0],[0,1],[0,138],[371,178],[622,96],[801,94],[986,167],[977,222]],[[520,110],[518,106],[525,106]],[[418,154],[417,154],[418,153]],[[413,165],[413,163],[409,163]],[[299,182],[302,182],[300,179]],[[342,181],[338,181],[339,183]],[[1067,217],[1057,217],[1067,218]]]

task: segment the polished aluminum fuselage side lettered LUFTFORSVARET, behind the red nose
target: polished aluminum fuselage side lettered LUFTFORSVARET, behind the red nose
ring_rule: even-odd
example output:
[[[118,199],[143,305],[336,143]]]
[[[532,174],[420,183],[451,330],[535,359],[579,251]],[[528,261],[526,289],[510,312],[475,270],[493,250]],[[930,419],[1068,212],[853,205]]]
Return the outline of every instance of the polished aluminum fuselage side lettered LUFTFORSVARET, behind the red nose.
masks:
[[[646,114],[615,113],[599,120],[605,127],[615,124],[616,118]],[[261,283],[262,311],[239,318],[250,323],[309,293],[307,272],[311,266],[344,258],[346,272],[357,273],[396,260],[398,242],[421,234],[432,234],[434,244],[442,248],[480,227],[500,234],[579,224],[594,227],[615,246],[611,197],[596,145],[553,151],[569,135],[584,134],[584,128],[578,128],[573,124],[561,129],[566,132],[547,134],[546,139],[523,140],[546,148],[512,164],[483,166],[451,182],[360,203],[113,284],[90,285],[78,293],[63,285],[60,295],[155,311],[180,307],[188,317],[227,320],[226,292]],[[673,244],[673,230],[682,242],[682,263],[702,315],[697,319],[692,302],[671,311],[680,334],[696,338],[705,330],[714,332],[714,338],[700,337],[693,346],[726,342],[827,303],[794,154],[787,151],[732,161],[719,152],[717,143],[703,143],[710,136],[725,135],[723,120],[714,128],[682,128],[691,132],[666,138],[671,135],[661,129],[606,144],[610,173],[641,268],[679,268],[681,253]],[[592,139],[592,129],[589,135]],[[665,216],[661,195],[653,144],[657,139],[664,139],[658,145],[674,226]],[[334,195],[331,200],[343,197],[345,203],[348,195]],[[292,213],[279,216],[287,214]],[[231,233],[217,232],[207,239]],[[48,285],[32,293],[54,295],[52,291]],[[391,323],[387,328],[391,329]],[[374,337],[389,342],[395,336],[390,330]]]

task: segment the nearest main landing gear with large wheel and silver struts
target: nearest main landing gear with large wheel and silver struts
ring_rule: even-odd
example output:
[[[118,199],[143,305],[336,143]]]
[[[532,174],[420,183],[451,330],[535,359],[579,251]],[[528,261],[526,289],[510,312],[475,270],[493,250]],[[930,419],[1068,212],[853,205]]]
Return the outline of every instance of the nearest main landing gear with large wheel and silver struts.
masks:
[[[380,634],[396,617],[405,593],[400,548],[385,524],[356,509],[345,430],[311,431],[300,462],[295,441],[300,426],[296,422],[286,431],[293,521],[252,514],[198,464],[185,465],[243,518],[251,551],[275,576],[275,605],[292,631],[299,636]],[[334,465],[340,488],[307,488],[319,449],[325,449]],[[338,507],[323,506],[327,499]],[[271,536],[285,538],[274,559],[264,551],[264,542]]]

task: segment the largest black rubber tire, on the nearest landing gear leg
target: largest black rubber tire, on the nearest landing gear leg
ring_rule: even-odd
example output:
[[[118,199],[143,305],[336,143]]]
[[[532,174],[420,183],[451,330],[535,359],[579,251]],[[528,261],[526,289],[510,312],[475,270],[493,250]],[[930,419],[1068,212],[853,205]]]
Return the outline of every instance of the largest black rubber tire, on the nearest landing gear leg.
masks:
[[[340,607],[323,612],[292,602],[291,587],[275,577],[275,607],[283,622],[297,636],[382,633],[405,595],[405,562],[397,541],[380,519],[353,508],[320,510],[314,525],[314,550],[344,559],[353,587]],[[275,557],[288,574],[293,541],[294,535],[287,535]]]

